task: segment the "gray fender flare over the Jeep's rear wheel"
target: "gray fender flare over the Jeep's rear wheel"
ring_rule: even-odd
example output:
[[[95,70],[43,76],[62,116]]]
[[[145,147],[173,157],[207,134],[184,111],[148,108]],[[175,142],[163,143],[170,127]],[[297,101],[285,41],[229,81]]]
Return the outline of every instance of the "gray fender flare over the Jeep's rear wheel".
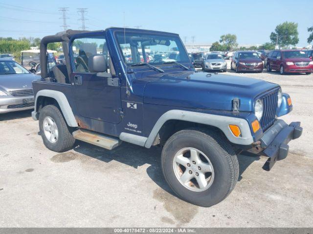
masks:
[[[58,102],[61,108],[62,114],[65,117],[65,120],[67,121],[67,125],[70,127],[78,127],[72,108],[70,107],[67,101],[67,97],[64,95],[64,93],[60,91],[55,91],[55,90],[43,89],[43,90],[38,91],[38,93],[36,94],[36,99],[35,99],[35,111],[34,113],[32,113],[33,118],[36,118],[37,116],[37,113],[36,113],[37,99],[39,97],[54,98]]]

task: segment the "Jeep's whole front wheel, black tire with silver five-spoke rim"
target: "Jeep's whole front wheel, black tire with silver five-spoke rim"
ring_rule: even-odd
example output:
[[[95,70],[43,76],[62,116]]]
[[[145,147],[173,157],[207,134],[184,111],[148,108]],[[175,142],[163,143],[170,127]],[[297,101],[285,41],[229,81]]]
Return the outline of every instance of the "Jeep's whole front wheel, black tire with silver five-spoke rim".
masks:
[[[227,140],[197,129],[181,130],[166,141],[161,166],[179,197],[203,207],[224,200],[239,176],[238,159]]]

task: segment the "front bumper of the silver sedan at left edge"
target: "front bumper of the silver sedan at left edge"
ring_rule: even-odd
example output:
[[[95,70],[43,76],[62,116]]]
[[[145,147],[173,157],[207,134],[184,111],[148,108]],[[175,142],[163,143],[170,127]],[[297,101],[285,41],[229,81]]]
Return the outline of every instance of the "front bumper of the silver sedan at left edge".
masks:
[[[13,97],[11,95],[0,97],[0,114],[34,109],[34,96]]]

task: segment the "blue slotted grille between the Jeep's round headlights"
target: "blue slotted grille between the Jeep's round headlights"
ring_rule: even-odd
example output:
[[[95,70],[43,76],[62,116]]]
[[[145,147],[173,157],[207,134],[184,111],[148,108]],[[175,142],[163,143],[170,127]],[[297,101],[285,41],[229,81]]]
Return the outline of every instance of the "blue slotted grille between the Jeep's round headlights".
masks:
[[[263,131],[265,131],[275,121],[277,94],[278,89],[261,98],[263,100],[263,116],[260,120],[260,124]]]

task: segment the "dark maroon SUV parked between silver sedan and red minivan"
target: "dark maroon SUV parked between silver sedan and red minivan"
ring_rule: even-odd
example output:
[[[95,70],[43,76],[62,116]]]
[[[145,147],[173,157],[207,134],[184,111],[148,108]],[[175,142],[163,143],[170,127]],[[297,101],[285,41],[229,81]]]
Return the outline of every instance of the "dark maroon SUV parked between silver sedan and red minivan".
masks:
[[[231,59],[230,69],[238,72],[262,72],[263,61],[254,51],[237,51]]]

